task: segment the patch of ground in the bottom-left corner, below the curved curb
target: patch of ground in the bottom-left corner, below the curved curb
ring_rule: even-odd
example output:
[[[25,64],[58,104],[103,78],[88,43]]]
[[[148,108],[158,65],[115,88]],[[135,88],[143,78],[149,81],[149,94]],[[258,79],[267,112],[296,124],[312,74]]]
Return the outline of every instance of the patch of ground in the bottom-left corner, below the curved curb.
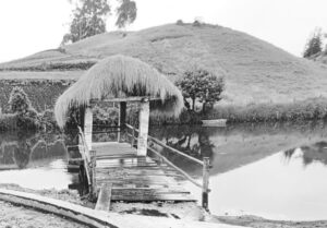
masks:
[[[0,201],[1,228],[86,228],[61,217]]]

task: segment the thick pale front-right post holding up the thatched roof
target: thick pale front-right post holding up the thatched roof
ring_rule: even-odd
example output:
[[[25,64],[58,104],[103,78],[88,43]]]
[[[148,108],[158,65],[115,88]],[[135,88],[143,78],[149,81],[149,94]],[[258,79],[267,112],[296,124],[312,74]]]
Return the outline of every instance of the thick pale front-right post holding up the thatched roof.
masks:
[[[149,122],[149,100],[144,99],[141,101],[140,110],[140,125],[137,137],[137,156],[146,156],[147,152],[147,135]]]

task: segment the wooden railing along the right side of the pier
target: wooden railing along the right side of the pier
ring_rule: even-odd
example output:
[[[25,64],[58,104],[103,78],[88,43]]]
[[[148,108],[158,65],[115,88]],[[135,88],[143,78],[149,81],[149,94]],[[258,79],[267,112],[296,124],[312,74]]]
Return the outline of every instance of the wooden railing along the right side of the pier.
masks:
[[[130,124],[125,124],[129,130],[131,130],[131,133],[126,131],[126,134],[131,137],[130,143],[132,146],[135,145],[135,141],[137,141],[137,134],[138,130]],[[199,183],[197,180],[195,180],[193,177],[191,177],[189,173],[186,173],[181,168],[177,167],[173,163],[171,163],[167,157],[165,157],[160,152],[158,152],[156,148],[153,147],[153,144],[157,144],[166,149],[171,151],[172,153],[175,153],[189,160],[192,160],[193,163],[199,165],[203,167],[203,181]],[[210,170],[210,160],[208,157],[204,157],[203,160],[196,159],[190,155],[186,155],[171,146],[168,146],[164,144],[161,141],[148,135],[148,151],[156,154],[162,161],[165,161],[167,165],[175,169],[178,172],[183,175],[189,181],[191,181],[194,185],[202,189],[202,206],[205,209],[208,209],[208,194],[210,192],[209,190],[209,170]]]

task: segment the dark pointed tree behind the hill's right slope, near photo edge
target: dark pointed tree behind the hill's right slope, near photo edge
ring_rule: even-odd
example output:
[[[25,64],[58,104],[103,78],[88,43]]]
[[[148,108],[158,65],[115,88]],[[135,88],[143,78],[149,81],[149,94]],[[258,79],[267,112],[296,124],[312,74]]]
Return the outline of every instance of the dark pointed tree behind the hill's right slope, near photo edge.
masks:
[[[323,46],[322,29],[316,28],[305,45],[303,57],[310,58],[316,53],[322,52],[323,50],[322,46]]]

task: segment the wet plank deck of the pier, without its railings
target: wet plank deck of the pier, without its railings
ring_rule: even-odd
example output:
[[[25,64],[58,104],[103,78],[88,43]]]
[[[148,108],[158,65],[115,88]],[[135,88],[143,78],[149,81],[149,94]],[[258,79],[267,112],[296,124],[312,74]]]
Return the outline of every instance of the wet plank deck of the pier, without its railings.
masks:
[[[93,143],[93,149],[96,154],[94,182],[95,191],[99,192],[98,202],[101,202],[101,191],[107,191],[110,201],[195,201],[179,182],[181,175],[148,156],[137,156],[136,148],[130,144]],[[106,204],[108,199],[104,201]]]

